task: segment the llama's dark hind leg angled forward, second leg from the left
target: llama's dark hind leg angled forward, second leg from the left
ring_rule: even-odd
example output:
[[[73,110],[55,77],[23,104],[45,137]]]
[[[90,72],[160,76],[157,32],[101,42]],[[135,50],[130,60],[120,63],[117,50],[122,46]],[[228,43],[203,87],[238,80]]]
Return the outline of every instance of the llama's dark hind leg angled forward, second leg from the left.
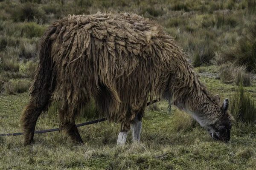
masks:
[[[75,113],[75,112],[73,112]],[[79,131],[76,127],[75,123],[75,115],[68,117],[67,105],[63,105],[61,109],[59,109],[59,118],[61,121],[60,129],[64,130],[64,133],[70,137],[72,142],[83,144],[83,140],[79,134]]]

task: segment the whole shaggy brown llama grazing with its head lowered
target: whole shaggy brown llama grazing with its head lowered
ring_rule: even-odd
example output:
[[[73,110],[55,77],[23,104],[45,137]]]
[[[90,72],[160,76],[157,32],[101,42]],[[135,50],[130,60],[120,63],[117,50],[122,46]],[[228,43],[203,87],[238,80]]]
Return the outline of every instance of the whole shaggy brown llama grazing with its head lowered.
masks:
[[[152,20],[136,14],[69,15],[44,33],[38,72],[21,122],[24,144],[33,142],[35,125],[52,100],[61,102],[60,129],[83,143],[76,114],[90,99],[109,121],[120,122],[118,144],[130,128],[140,141],[148,95],[192,113],[214,139],[230,140],[228,99],[219,105],[200,82],[181,49]]]

